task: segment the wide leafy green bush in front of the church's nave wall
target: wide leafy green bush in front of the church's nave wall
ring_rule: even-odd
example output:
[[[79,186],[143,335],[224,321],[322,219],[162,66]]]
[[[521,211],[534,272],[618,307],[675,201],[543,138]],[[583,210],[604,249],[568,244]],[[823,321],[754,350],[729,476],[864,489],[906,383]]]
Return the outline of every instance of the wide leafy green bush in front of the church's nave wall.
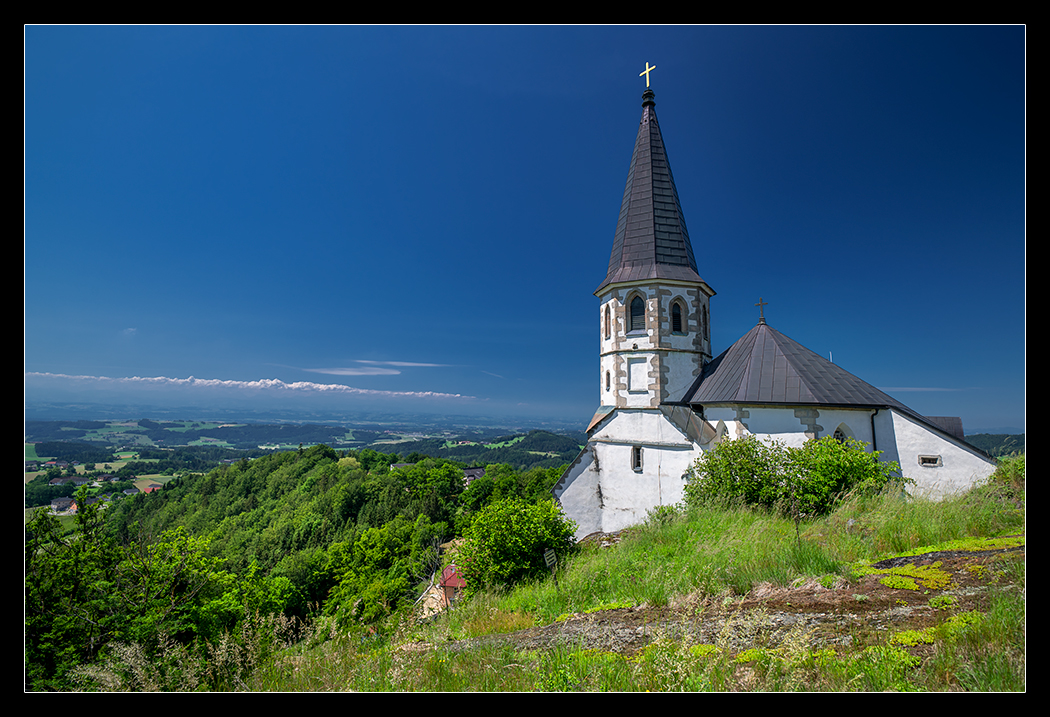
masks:
[[[722,441],[690,468],[686,501],[737,502],[796,518],[824,514],[847,492],[878,492],[903,480],[897,463],[880,461],[880,451],[865,446],[830,436],[800,448],[756,436]]]

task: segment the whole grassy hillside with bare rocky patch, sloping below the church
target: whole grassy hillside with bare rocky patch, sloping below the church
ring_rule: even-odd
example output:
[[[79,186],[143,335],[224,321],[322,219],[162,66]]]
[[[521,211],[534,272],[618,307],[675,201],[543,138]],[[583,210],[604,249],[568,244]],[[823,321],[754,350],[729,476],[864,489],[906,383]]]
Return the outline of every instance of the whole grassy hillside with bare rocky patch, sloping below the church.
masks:
[[[1026,688],[1023,472],[942,503],[848,501],[801,542],[788,521],[712,506],[621,537],[585,549],[556,586],[482,594],[386,638],[299,645],[249,687]]]

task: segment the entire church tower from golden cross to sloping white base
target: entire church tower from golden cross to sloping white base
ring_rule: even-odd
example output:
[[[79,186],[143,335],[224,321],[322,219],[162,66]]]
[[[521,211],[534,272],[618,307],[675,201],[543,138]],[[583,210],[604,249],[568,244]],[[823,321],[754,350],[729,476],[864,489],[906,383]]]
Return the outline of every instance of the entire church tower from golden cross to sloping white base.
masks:
[[[646,63],[609,268],[594,292],[601,406],[587,445],[552,490],[578,537],[636,525],[653,508],[680,503],[685,476],[702,452],[702,421],[689,399],[711,359],[715,292],[696,271],[648,88],[652,69]]]

